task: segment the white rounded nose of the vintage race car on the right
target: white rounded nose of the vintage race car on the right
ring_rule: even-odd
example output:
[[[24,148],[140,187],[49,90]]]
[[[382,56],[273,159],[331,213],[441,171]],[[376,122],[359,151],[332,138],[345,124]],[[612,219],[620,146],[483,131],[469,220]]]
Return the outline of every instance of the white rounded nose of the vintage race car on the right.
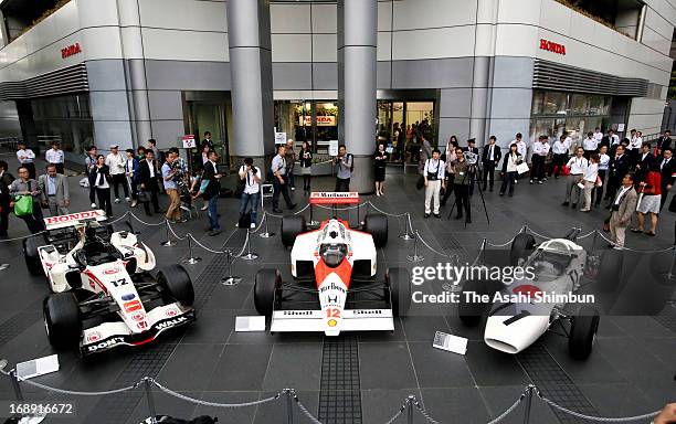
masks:
[[[515,354],[532,344],[548,326],[546,316],[492,316],[486,321],[484,341],[495,350]]]

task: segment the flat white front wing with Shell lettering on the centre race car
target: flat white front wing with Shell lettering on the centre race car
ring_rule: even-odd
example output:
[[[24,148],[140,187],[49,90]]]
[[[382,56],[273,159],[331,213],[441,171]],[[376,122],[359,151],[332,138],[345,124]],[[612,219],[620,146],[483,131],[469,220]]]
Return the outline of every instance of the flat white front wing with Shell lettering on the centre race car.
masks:
[[[336,317],[338,318],[338,317]],[[338,319],[327,318],[323,310],[275,310],[271,332],[394,331],[392,309],[345,309]]]

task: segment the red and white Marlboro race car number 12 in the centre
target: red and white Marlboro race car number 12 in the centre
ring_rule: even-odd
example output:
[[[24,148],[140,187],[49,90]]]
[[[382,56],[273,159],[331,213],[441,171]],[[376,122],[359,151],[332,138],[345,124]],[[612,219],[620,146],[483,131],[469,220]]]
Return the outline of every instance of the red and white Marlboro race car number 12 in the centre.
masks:
[[[376,279],[376,248],[387,241],[384,215],[367,214],[361,230],[330,219],[311,231],[303,216],[284,218],[282,242],[293,246],[295,280],[283,283],[277,269],[261,269],[254,285],[256,310],[272,317],[271,332],[393,331],[393,317],[410,307],[411,283],[405,268],[388,269],[384,282]]]

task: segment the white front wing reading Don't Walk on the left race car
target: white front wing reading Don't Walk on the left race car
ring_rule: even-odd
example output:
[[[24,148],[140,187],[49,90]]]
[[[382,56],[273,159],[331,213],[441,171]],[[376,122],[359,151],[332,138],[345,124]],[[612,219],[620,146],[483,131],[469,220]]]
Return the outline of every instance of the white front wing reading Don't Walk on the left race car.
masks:
[[[118,346],[141,346],[151,342],[171,328],[188,325],[197,319],[194,309],[184,309],[178,303],[158,306],[145,315],[148,330],[134,333],[123,321],[104,322],[83,331],[81,356],[87,357]]]

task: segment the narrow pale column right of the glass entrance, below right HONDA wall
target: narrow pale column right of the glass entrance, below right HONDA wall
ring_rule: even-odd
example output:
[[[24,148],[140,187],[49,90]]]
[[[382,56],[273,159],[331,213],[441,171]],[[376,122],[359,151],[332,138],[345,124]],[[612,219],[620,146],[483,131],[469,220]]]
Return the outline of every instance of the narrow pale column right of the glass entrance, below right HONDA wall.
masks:
[[[472,73],[472,104],[469,137],[483,146],[490,136],[490,98],[493,97],[493,72],[495,41],[497,35],[498,0],[478,0]],[[464,140],[461,140],[461,144]]]

